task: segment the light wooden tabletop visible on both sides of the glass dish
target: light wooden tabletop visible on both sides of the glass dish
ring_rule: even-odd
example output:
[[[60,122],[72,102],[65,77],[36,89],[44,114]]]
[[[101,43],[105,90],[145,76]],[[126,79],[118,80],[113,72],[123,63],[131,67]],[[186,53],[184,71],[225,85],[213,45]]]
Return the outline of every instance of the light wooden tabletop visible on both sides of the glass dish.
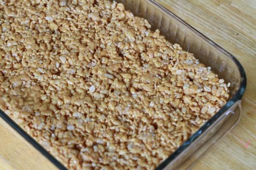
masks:
[[[239,125],[194,170],[256,169],[256,1],[157,1],[233,54],[247,75]],[[55,167],[0,119],[0,170],[51,169]]]

